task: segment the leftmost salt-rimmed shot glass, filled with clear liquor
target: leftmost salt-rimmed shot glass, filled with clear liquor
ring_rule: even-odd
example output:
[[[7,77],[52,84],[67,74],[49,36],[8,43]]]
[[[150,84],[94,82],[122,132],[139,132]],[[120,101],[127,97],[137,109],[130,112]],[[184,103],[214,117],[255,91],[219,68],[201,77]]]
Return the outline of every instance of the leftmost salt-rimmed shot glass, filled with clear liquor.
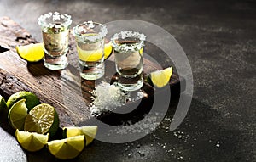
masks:
[[[58,12],[41,15],[44,42],[44,66],[49,70],[63,70],[67,67],[68,36],[72,23],[71,16]]]

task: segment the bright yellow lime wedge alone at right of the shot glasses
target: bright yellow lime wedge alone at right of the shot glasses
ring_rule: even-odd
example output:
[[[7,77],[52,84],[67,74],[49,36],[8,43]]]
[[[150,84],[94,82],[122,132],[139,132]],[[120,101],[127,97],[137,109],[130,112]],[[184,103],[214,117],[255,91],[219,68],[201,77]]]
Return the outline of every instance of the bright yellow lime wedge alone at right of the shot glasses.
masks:
[[[149,78],[155,87],[165,87],[172,76],[172,67],[157,70],[149,74]]]

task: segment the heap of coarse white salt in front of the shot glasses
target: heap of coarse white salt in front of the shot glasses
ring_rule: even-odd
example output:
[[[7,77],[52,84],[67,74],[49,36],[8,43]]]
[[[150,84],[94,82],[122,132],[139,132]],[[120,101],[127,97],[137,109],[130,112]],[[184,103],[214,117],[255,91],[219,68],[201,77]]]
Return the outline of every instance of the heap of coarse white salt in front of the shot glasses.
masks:
[[[123,92],[116,83],[110,85],[102,81],[92,92],[92,103],[90,104],[90,114],[94,116],[101,115],[103,112],[113,111],[132,101],[130,93]],[[137,92],[137,98],[142,98],[143,92]]]

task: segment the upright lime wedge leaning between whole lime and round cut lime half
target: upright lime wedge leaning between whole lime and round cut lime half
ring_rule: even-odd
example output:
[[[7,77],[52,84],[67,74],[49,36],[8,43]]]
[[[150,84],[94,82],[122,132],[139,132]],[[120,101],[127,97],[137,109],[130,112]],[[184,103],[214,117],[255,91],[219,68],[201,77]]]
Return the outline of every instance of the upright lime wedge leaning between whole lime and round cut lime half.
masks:
[[[23,130],[27,115],[26,99],[21,99],[9,109],[9,124],[18,130]]]

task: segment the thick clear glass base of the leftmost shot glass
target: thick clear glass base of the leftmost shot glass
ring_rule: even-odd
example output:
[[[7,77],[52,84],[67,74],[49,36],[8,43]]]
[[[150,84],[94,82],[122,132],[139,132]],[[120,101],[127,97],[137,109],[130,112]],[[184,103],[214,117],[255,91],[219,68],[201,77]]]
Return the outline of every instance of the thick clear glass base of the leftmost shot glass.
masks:
[[[63,70],[67,67],[67,54],[61,56],[49,56],[44,54],[44,66],[49,70]]]

